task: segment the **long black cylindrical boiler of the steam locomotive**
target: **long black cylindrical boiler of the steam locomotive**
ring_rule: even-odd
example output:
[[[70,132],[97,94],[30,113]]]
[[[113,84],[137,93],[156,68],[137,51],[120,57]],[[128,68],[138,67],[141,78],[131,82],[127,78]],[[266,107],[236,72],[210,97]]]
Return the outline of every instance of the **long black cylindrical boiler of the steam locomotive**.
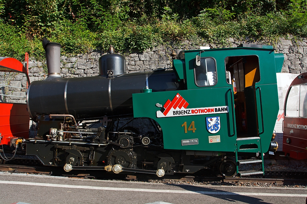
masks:
[[[71,114],[76,119],[132,115],[132,94],[140,93],[140,90],[146,87],[146,75],[148,86],[153,92],[183,89],[182,84],[176,82],[175,73],[166,70],[124,74],[112,78],[91,76],[33,81],[28,89],[29,112],[34,120],[37,115],[49,114]],[[109,97],[110,79],[111,97]],[[66,83],[68,111],[64,98]]]

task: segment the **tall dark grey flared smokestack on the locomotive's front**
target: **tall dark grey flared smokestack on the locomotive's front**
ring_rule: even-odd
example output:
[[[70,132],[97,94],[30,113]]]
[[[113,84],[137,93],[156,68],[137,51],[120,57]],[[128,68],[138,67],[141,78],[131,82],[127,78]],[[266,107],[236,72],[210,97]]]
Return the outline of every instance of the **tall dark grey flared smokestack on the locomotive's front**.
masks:
[[[58,78],[60,77],[60,59],[61,59],[61,45],[59,43],[52,43],[46,38],[42,40],[43,48],[46,52],[46,61],[48,69],[48,77]],[[51,77],[51,78],[50,78]]]

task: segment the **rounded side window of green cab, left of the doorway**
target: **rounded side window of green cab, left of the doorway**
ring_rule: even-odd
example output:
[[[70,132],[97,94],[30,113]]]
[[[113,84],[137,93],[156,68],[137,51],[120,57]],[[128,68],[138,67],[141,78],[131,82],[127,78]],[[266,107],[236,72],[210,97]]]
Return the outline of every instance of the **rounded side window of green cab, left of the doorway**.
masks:
[[[217,82],[216,62],[213,58],[201,58],[194,68],[195,83],[199,87],[213,86]]]

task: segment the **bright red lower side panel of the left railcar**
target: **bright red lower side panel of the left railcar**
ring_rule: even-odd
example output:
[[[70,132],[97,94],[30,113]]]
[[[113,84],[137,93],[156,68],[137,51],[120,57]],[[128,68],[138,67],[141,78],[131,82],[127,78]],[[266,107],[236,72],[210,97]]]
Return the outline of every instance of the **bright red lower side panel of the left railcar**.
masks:
[[[10,145],[13,138],[29,138],[29,120],[27,104],[0,103],[1,143]]]

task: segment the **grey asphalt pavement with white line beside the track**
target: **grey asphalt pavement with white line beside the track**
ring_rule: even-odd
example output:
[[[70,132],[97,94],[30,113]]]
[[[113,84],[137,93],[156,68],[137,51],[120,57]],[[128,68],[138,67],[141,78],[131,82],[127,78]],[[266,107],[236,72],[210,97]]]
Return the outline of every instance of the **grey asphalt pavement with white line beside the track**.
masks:
[[[174,185],[0,173],[0,203],[305,204],[307,189]]]

